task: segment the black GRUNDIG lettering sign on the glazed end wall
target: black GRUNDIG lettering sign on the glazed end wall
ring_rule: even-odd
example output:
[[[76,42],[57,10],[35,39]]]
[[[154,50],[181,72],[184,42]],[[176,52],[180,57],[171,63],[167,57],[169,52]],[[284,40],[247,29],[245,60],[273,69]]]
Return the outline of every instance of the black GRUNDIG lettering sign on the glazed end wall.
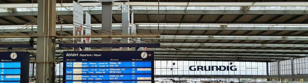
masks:
[[[233,63],[230,62],[230,65]],[[190,71],[214,71],[214,68],[216,68],[216,71],[237,71],[237,68],[234,68],[236,66],[189,66]]]

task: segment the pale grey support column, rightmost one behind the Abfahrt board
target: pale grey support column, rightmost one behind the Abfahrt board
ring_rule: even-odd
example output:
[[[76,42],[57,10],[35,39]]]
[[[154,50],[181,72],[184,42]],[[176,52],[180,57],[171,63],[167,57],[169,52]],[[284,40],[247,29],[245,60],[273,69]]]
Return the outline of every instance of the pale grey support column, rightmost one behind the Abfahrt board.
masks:
[[[124,3],[126,3],[126,2],[124,2]],[[128,9],[128,3],[126,3],[126,4],[123,4],[122,6],[125,6],[125,7],[127,7],[127,8],[125,8],[125,7],[122,7],[122,34],[123,35],[129,35],[129,9]],[[122,38],[122,43],[129,43],[128,42],[129,40],[128,40],[128,38]],[[124,51],[128,51],[128,48],[127,47],[125,47],[125,48],[123,48],[122,50],[124,50]]]

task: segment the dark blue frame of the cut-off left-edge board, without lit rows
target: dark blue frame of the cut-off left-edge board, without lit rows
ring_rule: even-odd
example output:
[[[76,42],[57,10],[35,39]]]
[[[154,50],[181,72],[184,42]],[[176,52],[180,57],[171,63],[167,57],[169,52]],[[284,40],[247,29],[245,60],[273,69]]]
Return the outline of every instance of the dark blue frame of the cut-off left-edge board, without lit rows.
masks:
[[[3,83],[13,82],[13,83],[29,83],[29,62],[30,53],[29,52],[14,52],[17,54],[15,59],[11,58],[11,53],[13,52],[0,52],[0,63],[20,63],[20,74],[8,74],[8,75],[20,75],[20,81],[0,81]],[[7,65],[11,66],[11,65]],[[13,68],[1,68],[1,69],[13,69]],[[16,68],[14,68],[16,69]],[[2,74],[3,76],[3,74]]]

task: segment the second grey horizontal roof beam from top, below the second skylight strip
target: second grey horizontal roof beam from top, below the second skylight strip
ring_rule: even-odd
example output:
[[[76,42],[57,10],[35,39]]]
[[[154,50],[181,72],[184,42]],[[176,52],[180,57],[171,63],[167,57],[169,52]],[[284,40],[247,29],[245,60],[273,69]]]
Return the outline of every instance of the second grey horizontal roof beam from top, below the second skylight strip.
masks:
[[[60,25],[59,25],[60,26]],[[71,25],[63,25],[63,26],[71,26]],[[0,26],[2,27],[2,26]],[[3,26],[3,27],[24,27],[24,26]],[[36,27],[36,25],[34,25]],[[99,28],[99,27],[97,27]],[[136,26],[137,30],[157,30],[157,26]],[[243,35],[247,35],[251,31],[308,31],[307,27],[159,27],[160,30],[213,30],[213,31],[246,31]],[[0,30],[0,33],[12,32],[17,29],[5,29]],[[56,28],[57,31],[61,31],[60,28]],[[63,28],[63,31],[72,31],[72,28]],[[100,30],[93,28],[93,30]],[[112,27],[112,30],[121,30],[121,27]],[[37,30],[34,28],[33,30],[36,32]],[[25,29],[21,32],[31,32],[31,29]],[[306,34],[303,32],[302,34]],[[301,36],[299,34],[298,36]]]

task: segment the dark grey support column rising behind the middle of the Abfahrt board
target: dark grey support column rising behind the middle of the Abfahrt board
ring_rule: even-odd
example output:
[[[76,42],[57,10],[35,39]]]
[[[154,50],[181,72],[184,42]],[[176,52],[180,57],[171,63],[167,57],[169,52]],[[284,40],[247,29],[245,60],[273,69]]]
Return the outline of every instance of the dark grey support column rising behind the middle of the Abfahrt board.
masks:
[[[104,1],[104,0],[101,0]],[[106,0],[105,0],[106,1]],[[112,3],[110,2],[101,2],[102,3],[102,32],[111,34],[112,32]],[[111,43],[111,38],[102,38],[102,42]],[[103,48],[111,50],[111,48]]]

